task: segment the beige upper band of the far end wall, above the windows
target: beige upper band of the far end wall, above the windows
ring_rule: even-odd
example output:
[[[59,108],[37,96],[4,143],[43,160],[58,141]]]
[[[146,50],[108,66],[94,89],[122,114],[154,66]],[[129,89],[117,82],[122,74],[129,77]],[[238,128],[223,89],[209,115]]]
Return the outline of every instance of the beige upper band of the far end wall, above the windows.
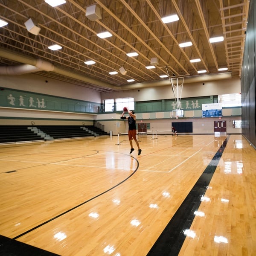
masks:
[[[241,93],[241,81],[239,78],[206,81],[204,82],[204,85],[202,82],[184,84],[181,98],[212,96],[228,93]],[[102,100],[126,97],[134,97],[135,102],[175,98],[171,85],[165,87],[139,88],[137,90],[122,90],[102,93]]]

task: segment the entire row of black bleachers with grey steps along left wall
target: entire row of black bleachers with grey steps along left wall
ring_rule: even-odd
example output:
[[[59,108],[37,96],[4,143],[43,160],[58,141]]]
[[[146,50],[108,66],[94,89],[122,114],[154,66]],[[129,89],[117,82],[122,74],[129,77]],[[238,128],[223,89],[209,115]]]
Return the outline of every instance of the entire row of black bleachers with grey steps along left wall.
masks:
[[[109,135],[93,125],[0,125],[0,143],[71,139]]]

